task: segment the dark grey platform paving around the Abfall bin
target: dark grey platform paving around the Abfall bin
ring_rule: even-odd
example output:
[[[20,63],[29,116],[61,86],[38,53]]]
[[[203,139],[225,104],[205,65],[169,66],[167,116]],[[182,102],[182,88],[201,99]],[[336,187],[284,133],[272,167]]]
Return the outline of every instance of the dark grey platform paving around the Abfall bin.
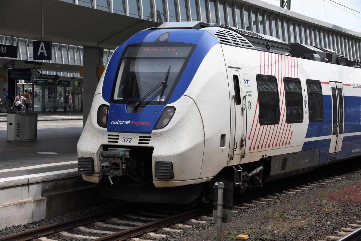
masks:
[[[0,130],[0,179],[76,168],[82,129],[38,129],[35,141],[23,142],[7,141],[6,130]],[[68,164],[62,165],[64,162]],[[39,168],[33,168],[36,165],[40,165]]]

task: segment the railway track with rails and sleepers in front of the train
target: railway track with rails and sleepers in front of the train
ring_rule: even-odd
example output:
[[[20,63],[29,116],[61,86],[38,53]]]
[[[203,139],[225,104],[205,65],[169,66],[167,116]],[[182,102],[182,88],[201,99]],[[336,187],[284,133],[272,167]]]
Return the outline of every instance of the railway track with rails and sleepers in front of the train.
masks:
[[[192,219],[196,216],[203,215],[205,213],[209,213],[211,209],[212,207],[201,207],[194,210],[177,213],[174,215],[151,214],[151,213],[143,212],[143,214],[147,216],[137,216],[132,214],[125,214],[124,211],[110,210],[103,212],[101,214],[89,215],[82,218],[72,219],[68,221],[63,221],[61,223],[55,223],[19,233],[14,233],[8,236],[0,237],[0,241],[5,241],[5,240],[6,241],[28,241],[28,240],[49,241],[52,239],[47,238],[46,236],[50,236],[51,234],[54,233],[58,233],[60,237],[85,239],[85,240],[96,239],[97,241],[113,241],[113,240],[121,241],[135,236],[141,236],[144,232],[148,233],[149,234],[148,236],[160,237],[159,235],[161,234],[154,234],[152,233],[152,231],[156,231],[159,228],[168,227],[172,224],[175,224],[175,227],[178,228],[189,228],[191,226],[182,225],[178,223],[183,222],[184,220]],[[151,215],[154,216],[151,217]],[[123,216],[126,218],[120,220],[117,218],[109,218],[109,216]],[[165,216],[165,217],[158,218],[161,216]],[[108,222],[118,223],[118,224],[117,225],[106,224],[101,221],[98,221],[104,219],[106,219]],[[134,219],[138,221],[132,221]],[[201,222],[205,222],[205,221],[201,221]],[[88,225],[90,223],[94,223],[95,226],[101,227],[103,229],[112,228],[112,229],[120,229],[121,231],[113,232],[113,231],[104,231],[104,230],[99,230],[99,229],[97,230],[97,229],[84,227],[84,225]],[[131,225],[134,225],[135,227],[132,227]],[[79,235],[76,234],[76,232],[75,233],[68,232],[68,230],[74,230],[74,229],[84,233],[87,232],[90,235],[88,234]],[[172,230],[177,230],[177,229],[166,228],[163,230],[171,232]],[[177,231],[179,232],[179,230]],[[98,236],[94,236],[94,234]]]

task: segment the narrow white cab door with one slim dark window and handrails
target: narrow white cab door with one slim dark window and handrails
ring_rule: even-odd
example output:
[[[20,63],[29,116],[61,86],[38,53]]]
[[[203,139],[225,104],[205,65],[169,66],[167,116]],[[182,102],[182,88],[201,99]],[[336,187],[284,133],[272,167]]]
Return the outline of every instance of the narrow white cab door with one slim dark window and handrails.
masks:
[[[242,90],[240,86],[240,78],[238,70],[231,70],[231,83],[233,88],[230,86],[231,93],[231,142],[230,145],[230,158],[240,155],[242,158],[242,150],[245,137],[243,136],[243,115],[245,116],[244,104],[242,99]]]

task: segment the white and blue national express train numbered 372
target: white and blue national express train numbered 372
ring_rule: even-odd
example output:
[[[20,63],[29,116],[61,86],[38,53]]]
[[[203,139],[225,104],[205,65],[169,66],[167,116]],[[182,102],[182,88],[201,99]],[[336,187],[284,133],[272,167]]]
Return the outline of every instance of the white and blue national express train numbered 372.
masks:
[[[208,203],[361,156],[361,64],[327,48],[166,22],[116,48],[77,144],[100,195]]]

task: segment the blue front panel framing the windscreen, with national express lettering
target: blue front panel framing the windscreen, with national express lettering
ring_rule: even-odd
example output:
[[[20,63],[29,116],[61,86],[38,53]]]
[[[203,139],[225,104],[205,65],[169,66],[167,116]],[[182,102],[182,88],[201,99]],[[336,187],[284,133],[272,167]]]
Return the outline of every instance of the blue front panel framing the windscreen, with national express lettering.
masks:
[[[104,100],[107,102],[110,101],[110,95],[117,66],[126,45],[142,42],[155,42],[156,39],[165,32],[170,33],[169,42],[197,44],[186,68],[182,73],[181,78],[178,81],[177,86],[175,87],[168,101],[168,104],[173,103],[181,98],[191,83],[197,69],[199,68],[199,65],[201,64],[206,54],[213,46],[219,44],[218,40],[216,40],[216,38],[214,38],[206,31],[191,29],[161,29],[141,31],[132,36],[125,43],[119,46],[116,51],[114,51],[112,58],[109,61],[103,83],[102,95]],[[141,113],[129,113],[126,111],[125,105],[110,104],[107,130],[111,132],[125,133],[151,133],[163,109],[164,105],[149,105],[145,106]]]

